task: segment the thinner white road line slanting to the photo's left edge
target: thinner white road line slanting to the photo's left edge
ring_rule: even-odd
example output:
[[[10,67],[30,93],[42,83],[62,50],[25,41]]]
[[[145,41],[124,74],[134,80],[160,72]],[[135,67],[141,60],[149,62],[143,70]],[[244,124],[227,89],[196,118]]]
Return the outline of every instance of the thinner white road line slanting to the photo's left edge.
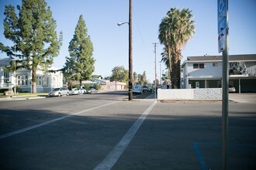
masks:
[[[34,129],[34,128],[39,128],[39,127],[41,127],[41,126],[44,126],[44,125],[53,123],[53,122],[55,122],[55,121],[61,121],[62,119],[65,119],[65,118],[67,118],[67,117],[71,117],[71,116],[78,115],[78,114],[83,114],[83,113],[85,113],[85,112],[87,112],[87,111],[95,110],[95,109],[98,109],[98,108],[100,108],[100,107],[106,107],[106,106],[108,106],[108,105],[110,105],[110,104],[116,104],[116,103],[118,103],[118,102],[120,102],[120,101],[115,101],[115,102],[112,102],[112,103],[109,103],[109,104],[103,104],[103,105],[100,105],[100,106],[98,106],[98,107],[92,107],[92,108],[87,109],[87,110],[81,110],[81,111],[78,111],[77,113],[74,113],[74,114],[68,114],[68,115],[66,115],[66,116],[64,116],[64,117],[58,117],[58,118],[53,119],[53,120],[50,120],[50,121],[45,121],[45,122],[43,122],[43,123],[35,124],[35,125],[29,126],[29,127],[27,127],[27,128],[19,129],[18,131],[12,131],[12,132],[7,133],[7,134],[2,134],[2,135],[0,136],[0,140],[3,139],[3,138],[8,138],[8,137],[10,137],[10,136],[13,136],[13,135],[15,135],[15,134],[20,134],[20,133],[22,133],[22,132],[32,130],[32,129]]]

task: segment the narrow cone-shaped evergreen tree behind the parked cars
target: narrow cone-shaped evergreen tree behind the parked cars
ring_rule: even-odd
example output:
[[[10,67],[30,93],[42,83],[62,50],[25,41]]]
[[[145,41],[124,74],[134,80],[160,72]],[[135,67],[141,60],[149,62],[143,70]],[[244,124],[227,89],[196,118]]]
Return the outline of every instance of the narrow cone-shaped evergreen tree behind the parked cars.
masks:
[[[79,16],[68,51],[70,56],[66,56],[65,73],[71,80],[78,80],[81,86],[81,81],[90,80],[95,70],[92,41],[82,15]]]

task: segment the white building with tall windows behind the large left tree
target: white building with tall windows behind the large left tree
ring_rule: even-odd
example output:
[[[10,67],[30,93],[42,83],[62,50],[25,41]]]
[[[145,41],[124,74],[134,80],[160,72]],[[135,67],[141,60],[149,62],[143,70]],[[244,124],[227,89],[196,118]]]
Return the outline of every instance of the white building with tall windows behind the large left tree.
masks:
[[[17,92],[32,92],[32,70],[24,68],[16,70],[16,73],[10,73],[4,70],[5,66],[9,66],[12,59],[0,58],[0,89],[9,89],[18,87]],[[50,68],[50,70],[57,70]],[[40,68],[36,70],[36,91],[49,92],[53,88],[63,86],[63,73],[56,71],[55,73],[44,73]]]

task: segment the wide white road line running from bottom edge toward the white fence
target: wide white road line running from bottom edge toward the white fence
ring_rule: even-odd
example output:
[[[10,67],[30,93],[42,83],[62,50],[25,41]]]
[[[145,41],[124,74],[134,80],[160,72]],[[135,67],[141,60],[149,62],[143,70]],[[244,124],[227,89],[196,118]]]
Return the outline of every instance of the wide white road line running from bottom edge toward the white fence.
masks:
[[[116,164],[117,160],[123,154],[123,151],[125,151],[127,146],[130,144],[130,141],[132,141],[133,136],[140,128],[140,125],[144,122],[145,118],[147,117],[147,114],[149,114],[150,111],[154,108],[155,104],[157,104],[157,102],[154,102],[150,105],[150,107],[147,107],[147,110],[145,110],[144,113],[140,115],[137,121],[134,122],[134,124],[126,132],[123,138],[118,142],[115,148],[113,148],[112,151],[109,152],[109,155],[107,155],[106,158],[94,168],[94,170],[111,169],[112,166]]]

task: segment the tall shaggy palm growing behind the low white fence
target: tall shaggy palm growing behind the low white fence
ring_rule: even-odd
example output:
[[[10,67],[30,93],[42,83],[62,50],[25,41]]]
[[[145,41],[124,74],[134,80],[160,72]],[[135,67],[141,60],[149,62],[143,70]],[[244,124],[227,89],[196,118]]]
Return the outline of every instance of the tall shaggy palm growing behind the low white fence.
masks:
[[[192,21],[189,8],[171,8],[159,25],[158,39],[164,44],[162,60],[170,68],[172,87],[180,87],[180,63],[183,46],[195,33],[195,22]]]

